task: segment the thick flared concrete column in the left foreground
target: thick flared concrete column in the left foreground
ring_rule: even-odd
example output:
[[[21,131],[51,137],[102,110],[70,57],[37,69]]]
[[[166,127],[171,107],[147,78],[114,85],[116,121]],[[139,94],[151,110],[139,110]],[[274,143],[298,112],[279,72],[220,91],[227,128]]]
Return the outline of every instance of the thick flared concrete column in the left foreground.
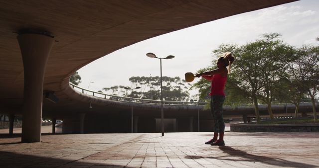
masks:
[[[17,36],[24,69],[22,142],[41,141],[42,96],[45,65],[53,38],[25,33]]]

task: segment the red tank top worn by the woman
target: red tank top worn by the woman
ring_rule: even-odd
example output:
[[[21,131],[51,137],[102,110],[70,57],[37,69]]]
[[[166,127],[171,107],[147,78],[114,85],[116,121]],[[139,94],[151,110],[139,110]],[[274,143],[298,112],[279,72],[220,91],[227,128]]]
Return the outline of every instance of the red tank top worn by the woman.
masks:
[[[226,80],[227,77],[222,77],[220,74],[215,74],[211,81],[211,92],[209,93],[209,95],[225,96],[224,87],[226,84]]]

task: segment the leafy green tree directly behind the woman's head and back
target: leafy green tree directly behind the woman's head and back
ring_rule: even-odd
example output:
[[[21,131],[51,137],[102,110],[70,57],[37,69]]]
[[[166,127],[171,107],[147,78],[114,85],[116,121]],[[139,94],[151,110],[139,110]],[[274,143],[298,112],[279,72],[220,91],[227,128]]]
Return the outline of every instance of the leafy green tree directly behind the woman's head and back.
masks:
[[[257,57],[258,55],[251,54],[248,47],[238,47],[237,45],[231,44],[221,44],[216,50],[213,51],[213,53],[215,57],[218,58],[219,55],[227,51],[232,52],[232,54],[236,56],[236,60],[232,65],[233,67],[231,69],[231,73],[228,75],[227,83],[225,85],[225,90],[231,89],[231,91],[227,91],[227,93],[230,93],[234,96],[229,96],[229,94],[226,94],[226,99],[228,99],[228,97],[236,96],[246,97],[243,100],[250,99],[255,106],[255,115],[257,122],[259,123],[260,117],[257,90],[261,89],[262,86],[257,80],[258,76],[256,74],[258,71],[258,64],[256,64],[256,62],[258,62],[260,59]],[[217,67],[213,66],[207,69],[212,70],[215,68]],[[198,71],[198,73],[206,71],[207,69],[201,69]],[[204,97],[206,93],[210,91],[210,83],[204,79],[199,80],[199,82],[195,83],[193,87],[199,88],[201,97]]]

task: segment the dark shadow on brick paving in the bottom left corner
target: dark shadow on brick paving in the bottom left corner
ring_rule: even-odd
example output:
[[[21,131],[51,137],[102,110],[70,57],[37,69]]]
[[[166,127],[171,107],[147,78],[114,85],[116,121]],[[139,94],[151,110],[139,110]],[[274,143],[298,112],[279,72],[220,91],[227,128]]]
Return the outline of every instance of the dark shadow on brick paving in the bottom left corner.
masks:
[[[36,154],[35,154],[36,155]],[[123,168],[120,165],[110,165],[103,163],[76,162],[77,160],[67,160],[49,157],[39,157],[33,155],[22,155],[12,152],[0,151],[0,168],[48,168],[48,167],[65,167],[65,168],[90,168],[92,166]],[[129,168],[129,167],[126,167]]]

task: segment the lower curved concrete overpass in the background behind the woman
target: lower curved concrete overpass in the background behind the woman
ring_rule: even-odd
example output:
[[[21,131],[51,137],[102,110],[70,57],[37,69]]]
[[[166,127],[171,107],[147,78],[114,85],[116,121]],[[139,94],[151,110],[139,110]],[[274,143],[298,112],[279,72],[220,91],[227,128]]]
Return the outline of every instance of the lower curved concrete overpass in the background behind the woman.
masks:
[[[131,132],[131,105],[134,111],[134,132],[160,132],[160,100],[114,96],[70,84],[66,94],[85,102],[85,118],[73,114],[63,119],[64,133],[129,133]],[[131,101],[133,102],[131,104]],[[209,102],[163,101],[165,132],[213,131]],[[319,110],[319,102],[316,103]],[[294,116],[295,105],[272,104],[274,116]],[[261,117],[269,118],[266,104],[259,105]],[[312,115],[312,103],[302,102],[299,115]],[[255,117],[254,105],[225,105],[224,118],[242,120],[243,116]],[[67,126],[65,128],[64,126]]]

